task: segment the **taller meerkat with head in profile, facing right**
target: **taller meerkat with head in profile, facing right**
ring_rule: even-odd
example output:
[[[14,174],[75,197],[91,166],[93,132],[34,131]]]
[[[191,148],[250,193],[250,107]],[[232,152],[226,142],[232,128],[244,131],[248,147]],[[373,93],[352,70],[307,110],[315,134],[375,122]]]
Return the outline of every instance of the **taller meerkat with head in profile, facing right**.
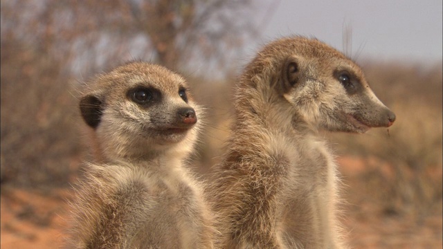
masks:
[[[316,39],[265,46],[235,95],[228,149],[212,184],[220,248],[345,248],[338,176],[319,130],[364,133],[395,114],[361,68]]]

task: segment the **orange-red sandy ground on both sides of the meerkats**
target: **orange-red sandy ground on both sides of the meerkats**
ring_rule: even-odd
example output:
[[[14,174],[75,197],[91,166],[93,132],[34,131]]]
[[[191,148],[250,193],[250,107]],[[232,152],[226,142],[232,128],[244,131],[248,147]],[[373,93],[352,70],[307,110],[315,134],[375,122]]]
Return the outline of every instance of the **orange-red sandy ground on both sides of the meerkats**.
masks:
[[[363,172],[362,163],[350,158],[339,159],[343,176]],[[349,185],[347,190],[355,187]],[[345,189],[346,190],[346,189]],[[70,190],[33,192],[2,187],[1,248],[60,248],[63,245]],[[354,202],[354,210],[345,212],[343,221],[351,248],[442,248],[442,214],[426,216],[420,223],[404,216],[381,215],[368,203]],[[351,205],[352,206],[352,205]]]

